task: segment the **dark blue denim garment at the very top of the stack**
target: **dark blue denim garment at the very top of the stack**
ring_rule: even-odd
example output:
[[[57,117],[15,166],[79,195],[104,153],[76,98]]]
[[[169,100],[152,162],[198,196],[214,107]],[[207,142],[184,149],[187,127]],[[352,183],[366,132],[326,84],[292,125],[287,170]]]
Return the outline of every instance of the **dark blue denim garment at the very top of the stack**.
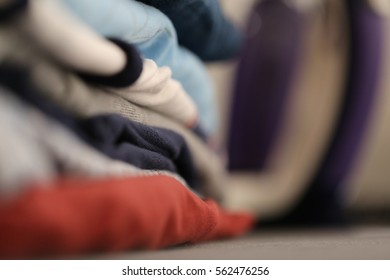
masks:
[[[224,16],[218,0],[138,0],[172,21],[179,44],[204,61],[229,59],[241,48],[240,31]]]

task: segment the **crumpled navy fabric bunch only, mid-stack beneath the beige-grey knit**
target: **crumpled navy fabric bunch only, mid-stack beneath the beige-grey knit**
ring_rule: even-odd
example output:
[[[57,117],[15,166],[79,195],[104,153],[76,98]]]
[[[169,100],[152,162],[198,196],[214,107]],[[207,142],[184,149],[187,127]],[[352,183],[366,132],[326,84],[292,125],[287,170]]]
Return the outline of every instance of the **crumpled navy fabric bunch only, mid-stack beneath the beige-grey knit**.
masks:
[[[168,129],[149,127],[109,114],[80,121],[93,145],[111,158],[142,169],[168,170],[197,185],[191,152],[184,138]]]

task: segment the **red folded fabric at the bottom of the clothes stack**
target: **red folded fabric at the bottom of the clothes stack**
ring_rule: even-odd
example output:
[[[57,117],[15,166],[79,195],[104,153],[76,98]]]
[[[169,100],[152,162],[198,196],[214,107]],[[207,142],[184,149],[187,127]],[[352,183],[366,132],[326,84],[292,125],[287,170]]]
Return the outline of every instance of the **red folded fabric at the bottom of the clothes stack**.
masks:
[[[253,222],[169,176],[64,178],[0,201],[0,258],[157,249],[234,237]]]

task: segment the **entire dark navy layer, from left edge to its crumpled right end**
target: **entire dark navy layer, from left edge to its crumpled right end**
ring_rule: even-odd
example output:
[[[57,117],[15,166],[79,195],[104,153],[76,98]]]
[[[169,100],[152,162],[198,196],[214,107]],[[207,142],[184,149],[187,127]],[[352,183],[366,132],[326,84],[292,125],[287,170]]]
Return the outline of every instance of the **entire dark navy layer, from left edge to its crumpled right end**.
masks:
[[[10,64],[0,67],[0,84],[109,157],[142,169],[177,173],[191,187],[197,187],[198,175],[190,150],[179,134],[114,114],[78,119],[40,94],[26,69]]]

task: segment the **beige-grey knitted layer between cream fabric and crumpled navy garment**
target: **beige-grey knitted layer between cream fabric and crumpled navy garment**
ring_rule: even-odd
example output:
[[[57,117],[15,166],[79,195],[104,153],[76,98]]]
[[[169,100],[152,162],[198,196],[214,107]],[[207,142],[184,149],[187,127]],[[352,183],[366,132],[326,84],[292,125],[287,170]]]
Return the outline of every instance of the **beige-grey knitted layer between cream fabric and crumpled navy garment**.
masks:
[[[195,168],[202,178],[202,189],[219,196],[223,189],[224,168],[216,154],[191,130],[179,122],[140,107],[104,89],[91,87],[58,67],[37,64],[32,78],[42,92],[61,107],[81,117],[117,113],[132,121],[173,130],[182,135],[191,150]],[[50,77],[50,78],[48,78]]]

